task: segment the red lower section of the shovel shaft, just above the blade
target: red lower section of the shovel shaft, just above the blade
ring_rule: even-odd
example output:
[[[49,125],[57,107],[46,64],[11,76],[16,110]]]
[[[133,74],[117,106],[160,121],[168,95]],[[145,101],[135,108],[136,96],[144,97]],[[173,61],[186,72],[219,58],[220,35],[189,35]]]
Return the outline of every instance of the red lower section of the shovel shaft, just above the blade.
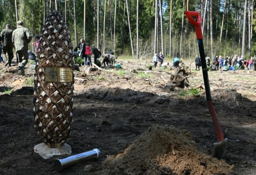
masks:
[[[214,107],[213,107],[213,101],[211,101],[211,100],[207,101],[207,104],[208,104],[208,109],[210,111],[210,115],[212,116],[213,125],[214,125],[214,129],[217,133],[218,140],[222,141],[224,139],[224,137],[223,137],[223,133],[221,131],[221,127],[219,125],[219,122],[218,122],[218,119],[217,119],[217,116],[216,116],[216,112],[215,112]]]

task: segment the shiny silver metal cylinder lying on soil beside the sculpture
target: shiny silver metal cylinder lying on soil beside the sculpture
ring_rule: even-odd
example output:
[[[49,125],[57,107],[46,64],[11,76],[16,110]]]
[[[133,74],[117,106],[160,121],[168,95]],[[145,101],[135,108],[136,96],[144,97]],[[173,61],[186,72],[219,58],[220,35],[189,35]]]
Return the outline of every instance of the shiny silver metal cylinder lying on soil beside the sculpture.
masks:
[[[53,167],[56,171],[61,171],[62,169],[70,167],[79,162],[97,159],[99,158],[99,156],[100,150],[96,148],[91,151],[76,154],[74,156],[69,156],[67,158],[56,159],[54,160]]]

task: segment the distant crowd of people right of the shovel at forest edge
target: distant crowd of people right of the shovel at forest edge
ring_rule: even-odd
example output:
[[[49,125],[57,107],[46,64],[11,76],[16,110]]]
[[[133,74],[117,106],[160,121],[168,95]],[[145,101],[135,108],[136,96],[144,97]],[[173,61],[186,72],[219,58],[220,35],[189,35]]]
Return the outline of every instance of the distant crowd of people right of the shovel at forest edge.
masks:
[[[250,57],[250,59],[244,58],[243,55],[234,55],[233,58],[226,56],[226,58],[223,59],[223,57],[219,55],[214,57],[212,65],[210,65],[210,60],[207,61],[207,64],[212,70],[241,70],[244,66],[243,68],[245,70],[256,71],[256,55],[254,55],[254,57]]]

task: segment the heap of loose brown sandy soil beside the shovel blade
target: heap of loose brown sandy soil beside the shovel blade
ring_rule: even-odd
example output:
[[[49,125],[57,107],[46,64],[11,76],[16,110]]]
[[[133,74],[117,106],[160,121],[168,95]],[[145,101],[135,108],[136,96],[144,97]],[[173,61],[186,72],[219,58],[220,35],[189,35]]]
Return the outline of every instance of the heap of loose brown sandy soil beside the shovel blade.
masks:
[[[105,168],[143,175],[227,175],[232,170],[224,160],[200,152],[189,131],[158,125],[149,127],[124,153],[109,156]]]

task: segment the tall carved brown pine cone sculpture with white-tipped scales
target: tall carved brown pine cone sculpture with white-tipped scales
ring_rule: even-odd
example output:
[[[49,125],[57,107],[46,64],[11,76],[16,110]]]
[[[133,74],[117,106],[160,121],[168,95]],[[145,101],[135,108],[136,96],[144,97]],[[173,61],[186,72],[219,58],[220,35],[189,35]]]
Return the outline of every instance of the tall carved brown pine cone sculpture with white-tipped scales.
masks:
[[[34,121],[37,133],[49,147],[57,148],[70,135],[72,124],[74,60],[67,25],[58,11],[46,19],[40,35],[34,81]],[[46,69],[50,69],[47,72]],[[71,81],[47,81],[66,69]],[[48,75],[49,74],[49,75]],[[52,78],[50,77],[50,78]],[[64,77],[64,76],[63,76]],[[65,79],[65,78],[64,78]]]

